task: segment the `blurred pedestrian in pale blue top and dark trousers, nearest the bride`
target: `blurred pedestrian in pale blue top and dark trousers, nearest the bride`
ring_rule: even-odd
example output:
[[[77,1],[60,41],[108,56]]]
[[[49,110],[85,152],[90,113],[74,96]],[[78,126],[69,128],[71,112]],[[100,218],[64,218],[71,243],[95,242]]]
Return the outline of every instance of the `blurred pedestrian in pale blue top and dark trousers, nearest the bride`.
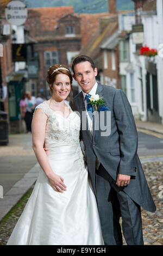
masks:
[[[25,114],[25,121],[27,125],[27,133],[32,132],[31,124],[32,124],[32,117],[34,113],[34,108],[36,106],[36,98],[32,96],[29,92],[26,93],[26,114]]]

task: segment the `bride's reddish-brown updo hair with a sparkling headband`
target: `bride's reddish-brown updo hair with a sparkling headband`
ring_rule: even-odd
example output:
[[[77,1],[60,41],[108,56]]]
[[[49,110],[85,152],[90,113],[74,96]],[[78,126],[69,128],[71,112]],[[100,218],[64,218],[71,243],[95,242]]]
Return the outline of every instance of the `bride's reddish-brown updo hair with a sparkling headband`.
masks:
[[[59,74],[64,74],[70,78],[70,83],[71,83],[71,98],[73,96],[73,87],[72,87],[72,75],[70,69],[67,68],[65,65],[60,65],[60,64],[55,64],[51,66],[47,72],[47,77],[46,80],[49,84],[50,92],[51,95],[53,94],[53,84],[56,80],[57,75]]]

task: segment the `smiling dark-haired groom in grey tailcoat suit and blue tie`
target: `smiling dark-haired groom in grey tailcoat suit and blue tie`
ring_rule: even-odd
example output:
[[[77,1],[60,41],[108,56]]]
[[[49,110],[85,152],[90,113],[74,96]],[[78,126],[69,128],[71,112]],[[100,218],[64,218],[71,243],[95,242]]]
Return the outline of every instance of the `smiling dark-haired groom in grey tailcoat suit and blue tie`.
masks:
[[[89,56],[75,58],[72,70],[82,92],[71,101],[71,107],[80,113],[80,137],[97,198],[104,242],[122,245],[119,223],[122,216],[127,244],[143,245],[140,206],[152,212],[156,208],[137,156],[137,131],[126,94],[96,82],[97,68]],[[104,120],[95,118],[89,103],[89,97],[95,94],[104,97],[106,129],[110,127],[108,135],[104,135],[101,128],[100,122]],[[87,128],[83,129],[85,120]]]

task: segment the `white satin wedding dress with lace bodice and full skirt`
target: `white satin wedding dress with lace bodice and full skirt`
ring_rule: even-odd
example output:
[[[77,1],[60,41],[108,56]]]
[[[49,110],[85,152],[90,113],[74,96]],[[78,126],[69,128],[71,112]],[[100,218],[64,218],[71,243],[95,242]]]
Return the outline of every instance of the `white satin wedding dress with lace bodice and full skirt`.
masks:
[[[7,245],[104,245],[96,198],[79,143],[80,118],[72,110],[65,118],[49,108],[46,101],[36,108],[42,108],[48,117],[48,161],[64,179],[67,191],[54,191],[40,168]]]

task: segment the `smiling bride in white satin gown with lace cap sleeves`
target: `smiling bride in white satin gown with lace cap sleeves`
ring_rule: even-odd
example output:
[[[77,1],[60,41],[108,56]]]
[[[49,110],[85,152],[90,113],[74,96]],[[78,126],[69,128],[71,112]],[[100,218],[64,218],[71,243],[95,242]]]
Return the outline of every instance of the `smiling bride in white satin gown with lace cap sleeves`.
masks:
[[[32,121],[40,172],[7,245],[104,245],[80,148],[80,118],[65,100],[72,89],[71,72],[53,65],[47,82],[52,97],[36,107]]]

